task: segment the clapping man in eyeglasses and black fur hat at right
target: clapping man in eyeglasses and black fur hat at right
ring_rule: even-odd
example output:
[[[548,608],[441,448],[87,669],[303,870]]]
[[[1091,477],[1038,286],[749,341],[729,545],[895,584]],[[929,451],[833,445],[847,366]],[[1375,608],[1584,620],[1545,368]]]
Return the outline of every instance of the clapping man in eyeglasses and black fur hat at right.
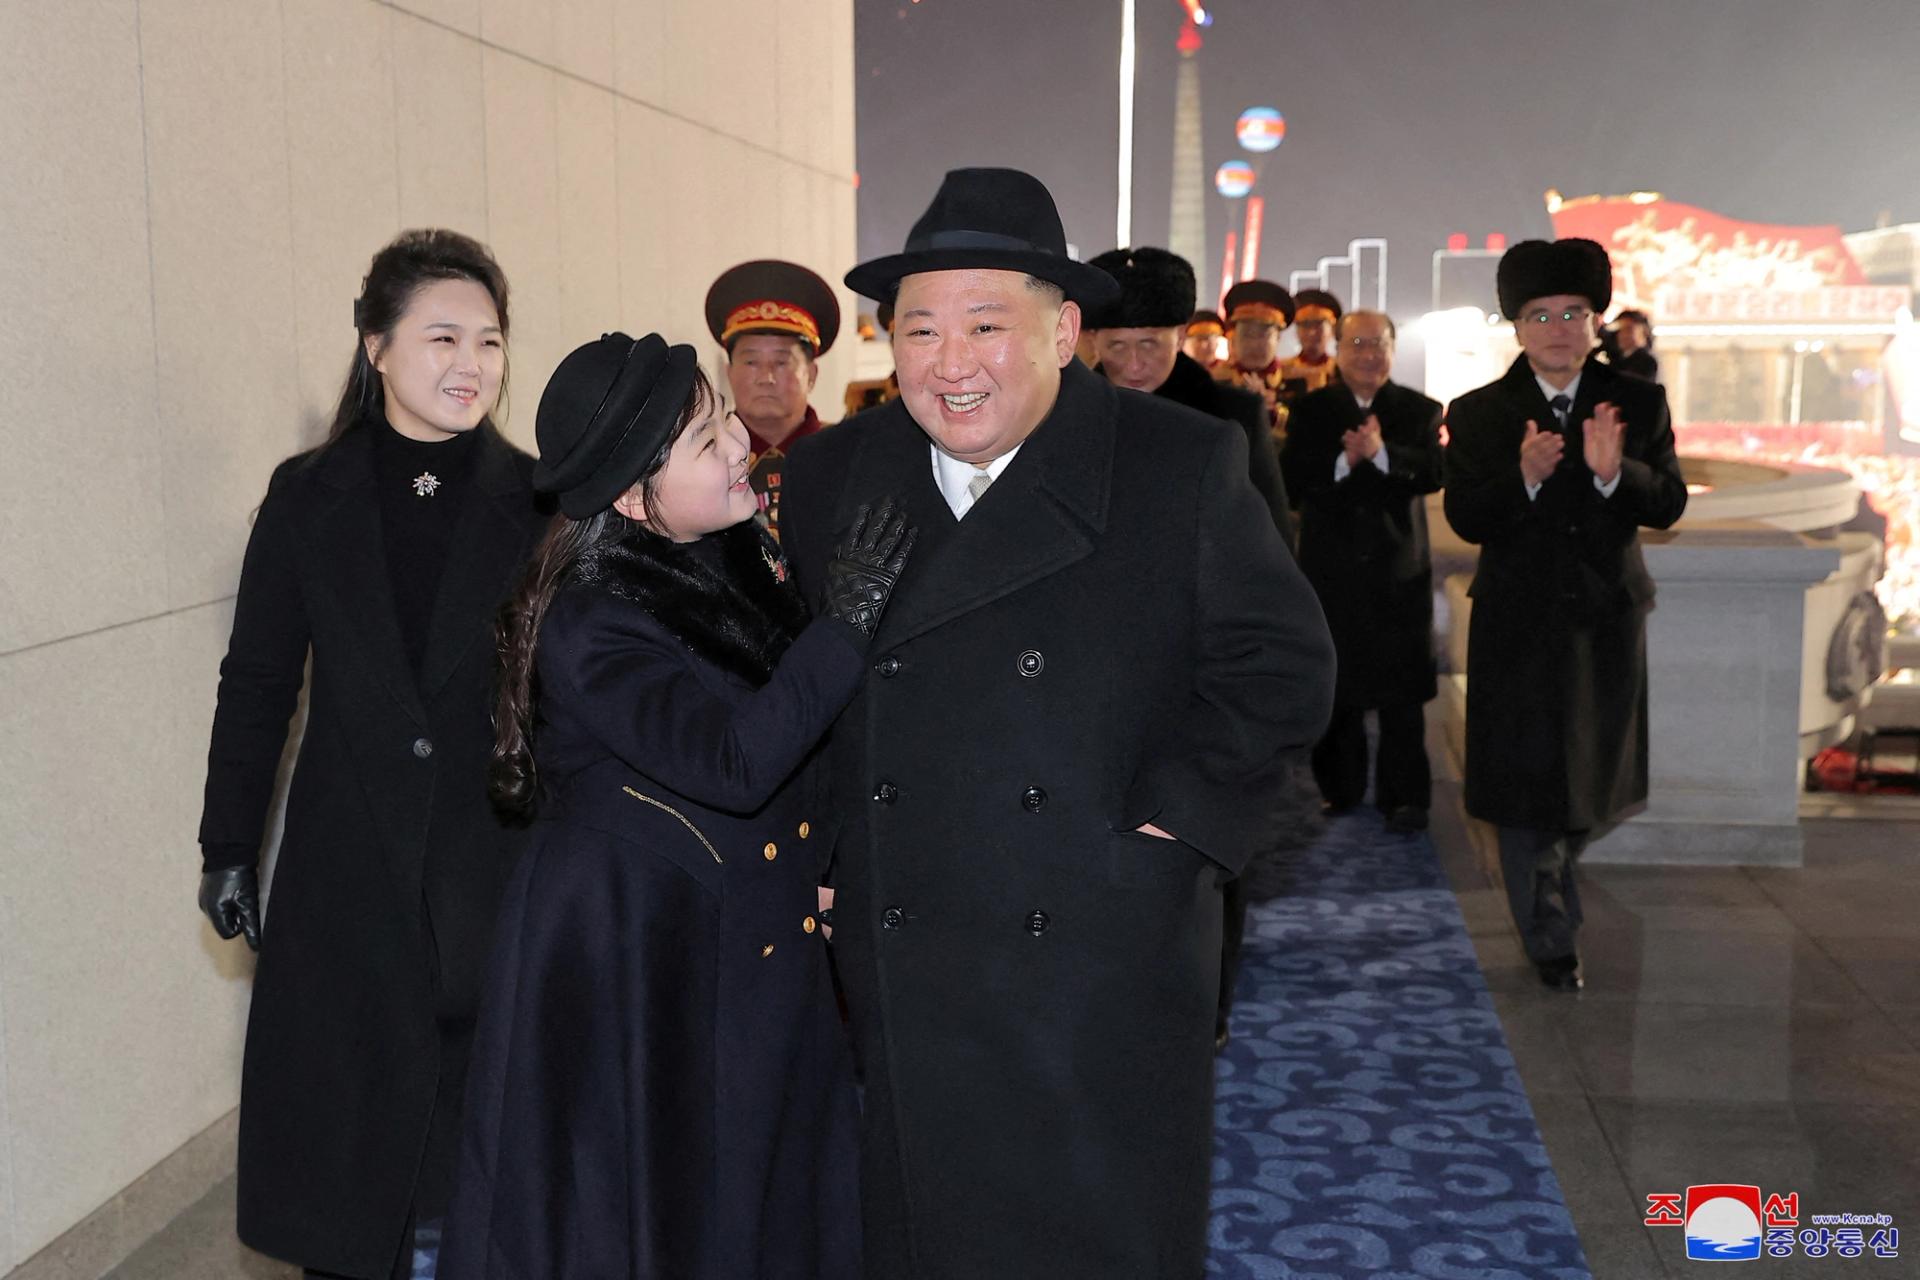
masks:
[[[1500,259],[1521,357],[1448,409],[1446,516],[1480,545],[1467,631],[1467,812],[1551,990],[1582,986],[1574,858],[1647,796],[1640,528],[1686,510],[1667,391],[1592,359],[1613,265],[1592,240]]]

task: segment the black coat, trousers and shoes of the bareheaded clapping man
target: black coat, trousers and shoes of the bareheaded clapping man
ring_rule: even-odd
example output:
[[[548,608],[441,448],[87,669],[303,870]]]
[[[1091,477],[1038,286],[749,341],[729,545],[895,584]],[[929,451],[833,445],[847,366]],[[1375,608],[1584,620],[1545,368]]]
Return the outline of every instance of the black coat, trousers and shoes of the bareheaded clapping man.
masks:
[[[1380,422],[1386,470],[1361,459],[1334,478],[1340,438],[1369,415]],[[1375,804],[1382,814],[1427,810],[1432,777],[1421,706],[1434,697],[1427,495],[1440,487],[1440,403],[1388,382],[1361,409],[1352,388],[1323,388],[1294,405],[1281,466],[1300,503],[1300,568],[1319,593],[1340,654],[1332,722],[1313,748],[1313,777],[1329,804],[1359,804],[1367,791],[1365,712],[1377,710]]]

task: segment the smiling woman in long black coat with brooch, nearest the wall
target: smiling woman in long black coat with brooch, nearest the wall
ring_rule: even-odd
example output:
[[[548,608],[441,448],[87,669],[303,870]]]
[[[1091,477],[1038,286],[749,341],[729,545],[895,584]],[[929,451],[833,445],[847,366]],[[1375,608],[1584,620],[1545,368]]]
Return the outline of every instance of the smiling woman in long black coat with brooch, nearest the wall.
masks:
[[[328,441],[273,474],[240,570],[200,904],[259,950],[240,1238],[309,1274],[413,1274],[453,1167],[480,971],[520,837],[486,796],[488,622],[543,524],[490,415],[507,280],[447,230],[386,246]],[[255,862],[307,683],[261,929]],[[430,1257],[430,1247],[428,1247]]]

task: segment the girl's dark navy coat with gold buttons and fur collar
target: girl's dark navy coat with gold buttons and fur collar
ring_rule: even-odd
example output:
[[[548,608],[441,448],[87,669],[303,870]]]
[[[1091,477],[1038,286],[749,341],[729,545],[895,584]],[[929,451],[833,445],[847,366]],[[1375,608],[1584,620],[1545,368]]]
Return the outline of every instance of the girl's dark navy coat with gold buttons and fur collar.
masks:
[[[758,645],[778,668],[732,660],[716,624],[781,620],[755,604],[758,530],[724,537],[751,595],[639,533],[541,626],[549,794],[501,912],[440,1280],[858,1276],[814,915],[833,831],[801,766],[864,645],[822,620]]]

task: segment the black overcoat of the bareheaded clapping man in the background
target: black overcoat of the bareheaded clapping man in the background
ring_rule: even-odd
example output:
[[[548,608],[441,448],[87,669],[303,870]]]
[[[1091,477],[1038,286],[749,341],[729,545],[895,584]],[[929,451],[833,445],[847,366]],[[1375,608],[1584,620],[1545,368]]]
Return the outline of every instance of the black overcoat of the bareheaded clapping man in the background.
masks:
[[[1380,420],[1386,470],[1334,480],[1340,436]],[[1286,491],[1300,505],[1300,568],[1319,593],[1340,654],[1342,706],[1400,706],[1434,695],[1432,558],[1427,495],[1440,487],[1440,401],[1388,382],[1361,409],[1336,382],[1286,418]]]

